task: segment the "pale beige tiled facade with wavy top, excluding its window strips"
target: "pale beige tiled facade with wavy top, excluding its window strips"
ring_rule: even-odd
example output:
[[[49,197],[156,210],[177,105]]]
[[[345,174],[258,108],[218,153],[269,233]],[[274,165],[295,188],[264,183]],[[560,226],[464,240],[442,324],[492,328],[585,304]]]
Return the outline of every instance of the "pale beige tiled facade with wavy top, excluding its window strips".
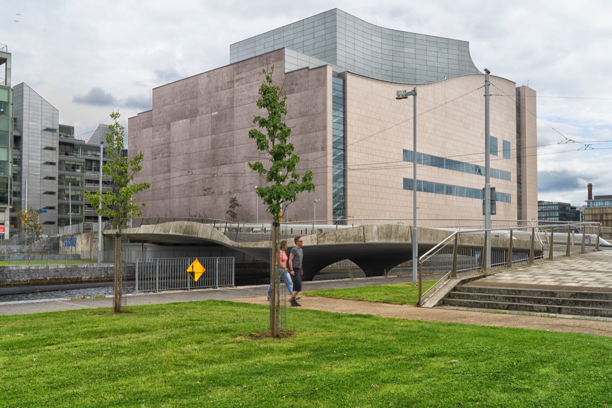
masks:
[[[412,218],[412,96],[396,100],[397,90],[411,86],[347,74],[347,193],[348,213],[355,218]],[[492,77],[491,83],[509,97],[491,98],[490,133],[498,138],[498,155],[491,168],[510,172],[510,180],[491,177],[498,193],[512,202],[497,202],[499,219],[517,218],[515,154],[516,104],[511,81]],[[484,75],[466,75],[417,85],[417,152],[485,165]],[[511,157],[504,158],[502,141],[509,141]],[[469,174],[417,163],[417,180],[481,189],[484,174]],[[480,199],[417,191],[419,218],[482,218]]]

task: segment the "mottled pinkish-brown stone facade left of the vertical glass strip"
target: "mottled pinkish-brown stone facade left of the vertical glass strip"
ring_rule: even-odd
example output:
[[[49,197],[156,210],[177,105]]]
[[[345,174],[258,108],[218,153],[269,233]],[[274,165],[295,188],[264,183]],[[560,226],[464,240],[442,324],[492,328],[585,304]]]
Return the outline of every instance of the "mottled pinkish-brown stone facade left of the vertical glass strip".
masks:
[[[129,155],[142,151],[143,170],[135,182],[151,182],[140,198],[146,217],[228,218],[228,202],[236,197],[240,221],[268,221],[263,202],[256,202],[255,187],[263,177],[248,161],[263,160],[248,131],[253,117],[266,111],[256,106],[263,69],[275,66],[274,83],[288,97],[287,125],[300,155],[298,171],[313,169],[317,192],[327,191],[327,172],[317,163],[325,158],[330,140],[330,67],[283,72],[284,51],[185,78],[153,90],[153,108],[129,119]],[[312,213],[312,199],[303,195],[288,217]],[[313,196],[314,197],[314,196]],[[319,208],[326,206],[321,196]],[[257,214],[257,209],[259,214]]]

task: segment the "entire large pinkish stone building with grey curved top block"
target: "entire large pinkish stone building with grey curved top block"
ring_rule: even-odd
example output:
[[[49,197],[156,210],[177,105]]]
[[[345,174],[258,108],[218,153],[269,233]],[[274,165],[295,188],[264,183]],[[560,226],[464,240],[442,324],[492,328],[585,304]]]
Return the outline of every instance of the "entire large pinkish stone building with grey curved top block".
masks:
[[[342,10],[230,45],[230,64],[153,89],[150,111],[129,119],[130,155],[144,153],[135,182],[149,181],[147,217],[266,220],[248,169],[264,158],[248,139],[263,69],[287,95],[285,122],[316,190],[285,220],[482,218],[484,74],[469,43],[383,28]],[[417,180],[412,179],[412,99],[417,87]],[[497,218],[537,218],[535,91],[491,76],[491,184]],[[321,201],[316,201],[320,199]]]

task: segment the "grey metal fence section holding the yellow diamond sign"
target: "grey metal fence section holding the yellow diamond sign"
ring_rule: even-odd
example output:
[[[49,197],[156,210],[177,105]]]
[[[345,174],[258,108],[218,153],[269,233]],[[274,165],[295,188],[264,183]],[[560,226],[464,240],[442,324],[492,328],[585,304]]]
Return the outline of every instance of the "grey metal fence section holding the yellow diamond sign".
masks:
[[[201,258],[204,272],[197,281],[187,273],[194,258],[157,258],[136,261],[135,292],[234,286],[234,258]]]

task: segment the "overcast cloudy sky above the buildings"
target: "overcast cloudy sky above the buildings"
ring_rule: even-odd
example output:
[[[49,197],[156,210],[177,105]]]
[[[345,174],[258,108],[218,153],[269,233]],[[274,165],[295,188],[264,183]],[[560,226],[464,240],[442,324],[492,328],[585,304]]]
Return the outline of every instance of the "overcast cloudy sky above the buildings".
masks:
[[[151,109],[153,87],[229,64],[231,43],[334,7],[468,41],[481,71],[537,91],[539,199],[580,206],[589,182],[612,195],[608,0],[0,0],[0,43],[13,86],[27,83],[88,138],[113,109],[124,124]]]

